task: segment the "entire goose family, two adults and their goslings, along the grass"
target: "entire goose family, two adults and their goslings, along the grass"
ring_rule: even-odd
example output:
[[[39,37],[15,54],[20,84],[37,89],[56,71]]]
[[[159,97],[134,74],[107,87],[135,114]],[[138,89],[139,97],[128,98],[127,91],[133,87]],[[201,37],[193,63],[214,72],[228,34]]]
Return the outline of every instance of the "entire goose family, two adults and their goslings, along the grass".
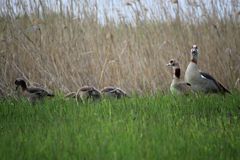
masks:
[[[185,71],[184,81],[181,80],[181,69],[179,62],[171,59],[167,66],[172,67],[173,78],[170,85],[170,91],[174,95],[188,95],[191,93],[230,93],[219,81],[210,74],[201,72],[198,68],[199,51],[197,45],[191,48],[191,61]],[[36,101],[43,100],[45,97],[54,97],[54,94],[43,88],[29,87],[22,78],[15,81],[16,90],[20,89],[20,94],[26,97],[29,102],[35,104]],[[76,92],[70,92],[65,95],[66,98],[75,98],[77,101],[100,100],[102,97],[123,98],[129,97],[128,94],[118,87],[104,87],[101,90],[94,86],[83,86]]]

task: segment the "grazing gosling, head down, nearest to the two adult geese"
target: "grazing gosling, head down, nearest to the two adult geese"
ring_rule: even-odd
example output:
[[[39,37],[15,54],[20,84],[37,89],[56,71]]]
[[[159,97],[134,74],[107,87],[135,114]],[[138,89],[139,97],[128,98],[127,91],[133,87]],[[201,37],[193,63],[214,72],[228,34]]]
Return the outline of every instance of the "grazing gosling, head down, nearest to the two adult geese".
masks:
[[[117,87],[104,87],[101,90],[102,95],[107,96],[107,97],[114,97],[114,98],[122,98],[122,97],[129,97],[125,91],[123,91],[120,88]]]

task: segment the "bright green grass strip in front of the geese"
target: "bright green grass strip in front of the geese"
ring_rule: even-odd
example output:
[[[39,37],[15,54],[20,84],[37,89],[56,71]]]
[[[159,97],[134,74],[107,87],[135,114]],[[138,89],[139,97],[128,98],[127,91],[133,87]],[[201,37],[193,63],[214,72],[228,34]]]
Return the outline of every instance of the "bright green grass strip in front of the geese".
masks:
[[[240,93],[0,100],[1,159],[239,159]]]

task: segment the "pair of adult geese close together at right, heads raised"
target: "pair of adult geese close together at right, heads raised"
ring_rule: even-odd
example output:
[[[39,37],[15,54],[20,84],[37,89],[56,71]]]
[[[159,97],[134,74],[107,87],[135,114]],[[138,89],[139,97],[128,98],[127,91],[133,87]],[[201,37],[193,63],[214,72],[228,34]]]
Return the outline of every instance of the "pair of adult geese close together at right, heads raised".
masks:
[[[184,80],[180,80],[181,70],[179,63],[175,60],[170,60],[167,66],[173,68],[173,80],[170,90],[173,94],[189,94],[193,92],[203,93],[230,93],[219,81],[208,73],[202,72],[198,68],[199,51],[197,45],[191,48],[191,61],[185,71]]]

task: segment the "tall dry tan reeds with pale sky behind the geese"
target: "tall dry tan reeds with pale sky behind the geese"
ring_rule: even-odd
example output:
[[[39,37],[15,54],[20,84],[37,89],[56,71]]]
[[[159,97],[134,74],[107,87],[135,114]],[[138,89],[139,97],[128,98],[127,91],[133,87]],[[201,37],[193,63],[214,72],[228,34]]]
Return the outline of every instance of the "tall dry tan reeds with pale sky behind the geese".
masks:
[[[16,77],[63,92],[166,91],[165,64],[179,60],[184,74],[193,44],[203,71],[239,89],[239,7],[238,0],[2,0],[0,93],[11,94]]]

